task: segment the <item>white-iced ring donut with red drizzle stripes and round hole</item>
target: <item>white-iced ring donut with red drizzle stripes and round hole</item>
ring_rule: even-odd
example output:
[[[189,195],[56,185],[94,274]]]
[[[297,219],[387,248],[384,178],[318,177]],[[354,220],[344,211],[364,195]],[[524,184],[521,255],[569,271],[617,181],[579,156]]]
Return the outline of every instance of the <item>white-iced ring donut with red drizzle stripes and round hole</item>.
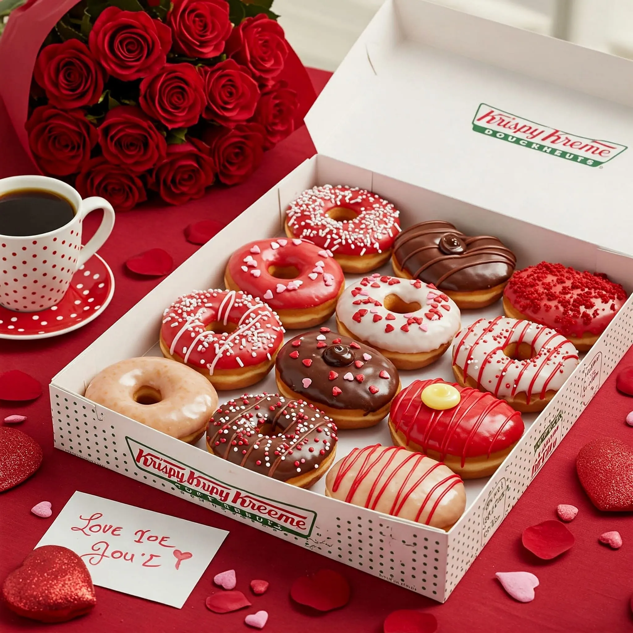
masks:
[[[517,411],[541,411],[572,375],[578,351],[555,330],[531,321],[480,318],[453,342],[462,386],[489,391]]]

